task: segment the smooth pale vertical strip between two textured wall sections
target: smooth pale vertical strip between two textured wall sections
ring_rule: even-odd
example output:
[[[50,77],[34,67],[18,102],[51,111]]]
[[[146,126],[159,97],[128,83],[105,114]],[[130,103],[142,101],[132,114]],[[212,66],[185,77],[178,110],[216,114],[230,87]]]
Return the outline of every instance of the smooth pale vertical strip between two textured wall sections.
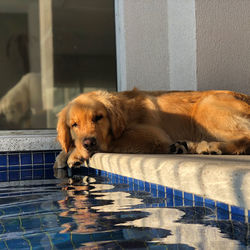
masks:
[[[168,0],[170,89],[196,90],[195,0]]]

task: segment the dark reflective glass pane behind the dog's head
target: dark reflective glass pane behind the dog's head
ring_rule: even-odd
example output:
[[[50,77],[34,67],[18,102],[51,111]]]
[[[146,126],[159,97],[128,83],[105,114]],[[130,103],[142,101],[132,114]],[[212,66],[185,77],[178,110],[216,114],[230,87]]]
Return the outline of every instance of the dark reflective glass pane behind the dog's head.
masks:
[[[116,90],[113,0],[0,1],[0,129],[56,127],[72,98]]]

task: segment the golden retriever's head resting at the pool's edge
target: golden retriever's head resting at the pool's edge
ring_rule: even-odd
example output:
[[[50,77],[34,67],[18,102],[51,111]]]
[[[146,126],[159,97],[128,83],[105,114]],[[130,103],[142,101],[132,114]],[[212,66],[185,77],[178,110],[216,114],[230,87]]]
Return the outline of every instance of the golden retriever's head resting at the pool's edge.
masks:
[[[96,91],[78,96],[58,114],[57,138],[65,152],[76,147],[79,157],[88,159],[96,152],[107,152],[124,128],[118,98]]]

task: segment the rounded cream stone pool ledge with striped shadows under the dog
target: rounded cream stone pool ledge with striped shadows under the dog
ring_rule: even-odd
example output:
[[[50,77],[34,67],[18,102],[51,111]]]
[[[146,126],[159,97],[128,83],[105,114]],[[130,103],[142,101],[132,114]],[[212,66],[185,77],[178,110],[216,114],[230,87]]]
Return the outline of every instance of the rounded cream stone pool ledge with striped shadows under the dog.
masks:
[[[90,166],[250,209],[250,156],[98,153]]]

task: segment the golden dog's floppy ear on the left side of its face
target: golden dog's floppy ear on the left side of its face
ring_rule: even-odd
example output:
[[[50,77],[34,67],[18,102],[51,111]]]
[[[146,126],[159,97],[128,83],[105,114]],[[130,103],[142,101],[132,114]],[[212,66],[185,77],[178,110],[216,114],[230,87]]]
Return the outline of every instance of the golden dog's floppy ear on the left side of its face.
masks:
[[[70,129],[67,125],[67,107],[57,115],[57,140],[62,146],[62,149],[68,153],[70,146],[73,144],[73,140],[70,135]]]

